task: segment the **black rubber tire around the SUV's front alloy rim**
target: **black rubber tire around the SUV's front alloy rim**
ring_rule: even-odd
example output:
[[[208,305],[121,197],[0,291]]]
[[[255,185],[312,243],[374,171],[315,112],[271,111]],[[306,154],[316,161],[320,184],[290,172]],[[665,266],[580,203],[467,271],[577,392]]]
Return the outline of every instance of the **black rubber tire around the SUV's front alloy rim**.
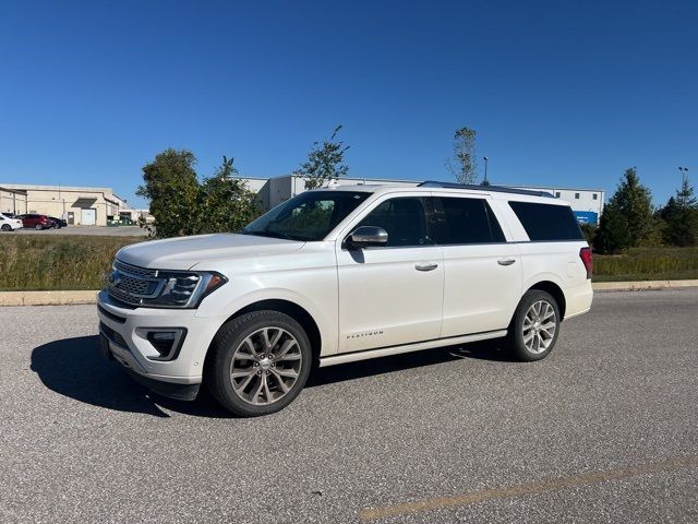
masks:
[[[232,385],[231,365],[233,355],[245,338],[265,327],[285,330],[296,338],[299,355],[301,356],[300,369],[298,370],[296,382],[284,396],[268,404],[253,405],[236,393]],[[303,327],[291,317],[272,310],[253,311],[229,321],[216,334],[209,352],[204,381],[214,397],[225,408],[240,417],[258,417],[284,409],[305,385],[313,365],[313,352]],[[261,372],[262,368],[258,369]],[[266,374],[268,376],[269,372]],[[278,393],[280,390],[277,388],[276,391]]]

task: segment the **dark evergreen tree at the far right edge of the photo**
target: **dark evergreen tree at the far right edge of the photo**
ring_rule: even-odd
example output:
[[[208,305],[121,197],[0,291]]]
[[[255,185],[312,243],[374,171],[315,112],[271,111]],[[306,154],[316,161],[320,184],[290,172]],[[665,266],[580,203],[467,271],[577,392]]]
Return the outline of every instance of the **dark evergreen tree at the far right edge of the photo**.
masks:
[[[695,246],[698,240],[698,202],[694,188],[684,178],[676,196],[671,196],[659,213],[664,221],[663,239],[673,246]]]

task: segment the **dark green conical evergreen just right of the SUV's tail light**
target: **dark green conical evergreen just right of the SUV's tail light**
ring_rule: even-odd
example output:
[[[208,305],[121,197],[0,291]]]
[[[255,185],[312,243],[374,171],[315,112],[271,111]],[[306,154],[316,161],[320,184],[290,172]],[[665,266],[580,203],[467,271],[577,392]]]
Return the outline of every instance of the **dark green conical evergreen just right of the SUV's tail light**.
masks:
[[[640,246],[651,239],[653,224],[650,191],[640,183],[634,167],[626,169],[603,210],[594,248],[602,253],[616,253]]]

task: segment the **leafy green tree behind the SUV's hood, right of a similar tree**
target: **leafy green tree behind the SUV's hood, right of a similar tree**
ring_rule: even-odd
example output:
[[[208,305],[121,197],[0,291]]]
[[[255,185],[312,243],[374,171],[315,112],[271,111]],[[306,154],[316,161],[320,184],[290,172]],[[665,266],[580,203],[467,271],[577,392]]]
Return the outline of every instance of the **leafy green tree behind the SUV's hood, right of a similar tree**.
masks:
[[[222,157],[222,164],[213,177],[204,179],[198,188],[197,235],[221,231],[239,231],[260,216],[256,193],[236,178],[238,169],[233,158]]]

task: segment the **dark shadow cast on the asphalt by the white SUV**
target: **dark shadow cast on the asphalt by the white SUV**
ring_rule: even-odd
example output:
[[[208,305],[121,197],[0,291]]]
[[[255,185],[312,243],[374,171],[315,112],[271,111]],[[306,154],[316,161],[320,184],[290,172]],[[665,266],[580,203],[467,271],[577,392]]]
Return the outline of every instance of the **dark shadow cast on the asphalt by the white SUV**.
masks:
[[[393,357],[318,368],[306,388],[392,373],[462,358],[508,361],[501,341],[448,346]],[[165,410],[207,418],[234,418],[208,394],[205,388],[193,402],[174,401],[149,392],[133,381],[119,365],[104,358],[99,337],[63,338],[36,347],[32,352],[32,370],[44,385],[58,394],[107,409],[169,417]]]

